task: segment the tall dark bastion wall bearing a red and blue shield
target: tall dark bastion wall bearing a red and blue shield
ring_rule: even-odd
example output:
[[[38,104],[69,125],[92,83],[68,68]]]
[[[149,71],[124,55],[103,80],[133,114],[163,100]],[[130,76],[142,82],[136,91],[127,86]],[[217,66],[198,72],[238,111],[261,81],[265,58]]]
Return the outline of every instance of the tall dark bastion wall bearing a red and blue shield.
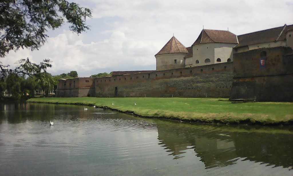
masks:
[[[256,97],[256,101],[292,102],[292,66],[290,47],[234,53],[234,80],[230,99]]]

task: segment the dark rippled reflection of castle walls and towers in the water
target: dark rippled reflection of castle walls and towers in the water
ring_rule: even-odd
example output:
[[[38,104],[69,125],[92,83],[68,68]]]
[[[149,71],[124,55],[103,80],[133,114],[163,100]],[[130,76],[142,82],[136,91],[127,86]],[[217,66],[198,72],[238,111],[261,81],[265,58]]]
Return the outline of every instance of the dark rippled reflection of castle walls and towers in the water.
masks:
[[[214,127],[166,121],[158,122],[157,127],[158,139],[160,144],[165,144],[163,147],[169,149],[167,152],[179,157],[180,151],[195,146],[195,155],[201,158],[207,168],[234,164],[233,159],[238,157],[276,166],[293,165],[293,158],[290,157],[293,156],[293,135],[290,131],[288,134],[286,130],[284,133],[275,133],[274,128],[263,128],[261,132],[247,133],[237,132],[242,131],[241,128],[250,131],[250,128],[241,126]]]

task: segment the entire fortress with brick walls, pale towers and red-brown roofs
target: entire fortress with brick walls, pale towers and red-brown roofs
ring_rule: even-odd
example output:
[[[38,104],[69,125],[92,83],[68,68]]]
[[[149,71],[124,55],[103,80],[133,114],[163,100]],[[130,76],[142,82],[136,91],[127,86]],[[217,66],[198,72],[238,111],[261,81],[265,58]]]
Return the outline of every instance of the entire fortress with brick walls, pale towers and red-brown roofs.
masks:
[[[190,47],[174,36],[156,70],[60,79],[57,97],[230,97],[293,101],[293,25],[235,35],[203,29]]]

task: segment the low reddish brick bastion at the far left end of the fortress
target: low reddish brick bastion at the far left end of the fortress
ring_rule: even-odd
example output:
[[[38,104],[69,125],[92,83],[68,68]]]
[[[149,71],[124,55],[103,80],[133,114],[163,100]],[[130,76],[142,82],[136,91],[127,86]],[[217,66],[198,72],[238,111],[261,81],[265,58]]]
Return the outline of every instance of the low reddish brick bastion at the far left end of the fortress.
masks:
[[[94,97],[95,85],[93,78],[77,77],[60,79],[56,97]]]

